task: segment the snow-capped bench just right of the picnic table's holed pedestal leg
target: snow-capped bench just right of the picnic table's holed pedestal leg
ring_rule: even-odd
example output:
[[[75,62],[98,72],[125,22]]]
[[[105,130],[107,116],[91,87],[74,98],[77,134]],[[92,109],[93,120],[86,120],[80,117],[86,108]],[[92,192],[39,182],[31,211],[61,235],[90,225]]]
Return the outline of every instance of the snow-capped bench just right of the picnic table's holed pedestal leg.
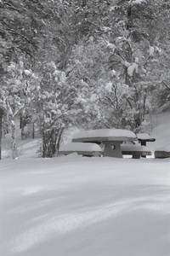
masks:
[[[122,154],[132,154],[133,159],[139,159],[141,157],[146,157],[146,155],[151,155],[151,151],[146,146],[133,145],[133,144],[122,144],[121,145]]]

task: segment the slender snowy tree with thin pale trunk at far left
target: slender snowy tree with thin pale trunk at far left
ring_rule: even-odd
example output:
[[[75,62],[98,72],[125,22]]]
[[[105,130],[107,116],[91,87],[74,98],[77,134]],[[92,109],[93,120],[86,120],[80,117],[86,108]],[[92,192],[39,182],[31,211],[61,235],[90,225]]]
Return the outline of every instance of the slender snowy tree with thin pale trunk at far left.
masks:
[[[3,75],[3,84],[0,88],[0,103],[6,109],[8,122],[12,131],[12,156],[18,156],[16,143],[16,118],[31,103],[31,96],[35,93],[35,75],[25,69],[24,62],[11,61]],[[34,82],[31,84],[31,82]],[[32,91],[34,90],[34,93]]]

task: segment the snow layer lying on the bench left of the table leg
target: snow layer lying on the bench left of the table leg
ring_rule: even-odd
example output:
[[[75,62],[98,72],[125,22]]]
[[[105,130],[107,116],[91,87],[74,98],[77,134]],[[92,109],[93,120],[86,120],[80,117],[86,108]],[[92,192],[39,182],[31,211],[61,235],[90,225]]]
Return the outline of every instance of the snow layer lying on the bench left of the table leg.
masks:
[[[67,143],[59,148],[59,151],[102,151],[95,143]]]

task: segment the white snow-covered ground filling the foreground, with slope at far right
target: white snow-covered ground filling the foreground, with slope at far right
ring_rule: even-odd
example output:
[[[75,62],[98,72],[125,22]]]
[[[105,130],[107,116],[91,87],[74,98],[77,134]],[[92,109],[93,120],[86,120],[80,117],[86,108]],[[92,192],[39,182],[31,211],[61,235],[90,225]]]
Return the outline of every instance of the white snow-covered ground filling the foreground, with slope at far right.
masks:
[[[36,145],[0,161],[1,256],[170,255],[170,159],[40,159]]]

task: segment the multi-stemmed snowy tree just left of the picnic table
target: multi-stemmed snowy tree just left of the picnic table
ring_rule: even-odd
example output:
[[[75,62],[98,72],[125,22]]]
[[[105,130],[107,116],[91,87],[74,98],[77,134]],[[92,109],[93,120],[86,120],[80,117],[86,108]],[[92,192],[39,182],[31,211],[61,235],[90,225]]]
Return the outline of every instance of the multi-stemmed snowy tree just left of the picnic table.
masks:
[[[42,157],[58,153],[62,132],[74,124],[79,113],[77,90],[54,61],[42,67],[40,88],[35,98],[37,119],[42,133]]]

